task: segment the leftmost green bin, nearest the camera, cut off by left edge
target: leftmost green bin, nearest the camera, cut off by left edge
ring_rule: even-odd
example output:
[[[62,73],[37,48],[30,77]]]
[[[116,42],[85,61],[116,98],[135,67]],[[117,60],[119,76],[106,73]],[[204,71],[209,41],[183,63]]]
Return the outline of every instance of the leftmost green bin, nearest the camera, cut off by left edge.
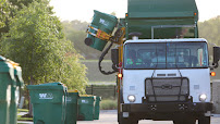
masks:
[[[0,55],[0,124],[9,124],[11,87],[14,84],[14,67]]]

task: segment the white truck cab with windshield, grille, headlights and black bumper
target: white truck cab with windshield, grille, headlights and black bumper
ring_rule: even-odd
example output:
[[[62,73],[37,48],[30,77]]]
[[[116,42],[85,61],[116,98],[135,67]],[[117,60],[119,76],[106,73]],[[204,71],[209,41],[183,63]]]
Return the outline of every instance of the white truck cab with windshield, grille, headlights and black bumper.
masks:
[[[122,117],[210,123],[210,69],[206,39],[124,42]],[[132,116],[132,117],[131,117]],[[186,122],[179,117],[187,117]],[[203,121],[203,122],[201,122]],[[138,121],[137,121],[138,122]]]

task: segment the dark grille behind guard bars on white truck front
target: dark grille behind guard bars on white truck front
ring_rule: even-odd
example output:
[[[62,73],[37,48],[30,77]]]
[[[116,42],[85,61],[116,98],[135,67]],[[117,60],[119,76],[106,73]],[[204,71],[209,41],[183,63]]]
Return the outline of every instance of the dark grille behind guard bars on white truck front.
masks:
[[[148,101],[185,101],[190,95],[187,78],[147,78],[145,94]]]

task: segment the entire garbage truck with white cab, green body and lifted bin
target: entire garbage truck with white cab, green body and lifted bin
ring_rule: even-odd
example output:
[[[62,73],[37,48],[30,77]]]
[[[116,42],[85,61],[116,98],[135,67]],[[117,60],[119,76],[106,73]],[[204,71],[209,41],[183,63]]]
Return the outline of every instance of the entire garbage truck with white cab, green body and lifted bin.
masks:
[[[195,0],[127,2],[124,18],[94,11],[85,39],[102,51],[100,72],[118,75],[119,124],[140,120],[210,124],[210,76],[218,67],[220,48],[213,47],[209,62],[208,41],[198,36]],[[112,71],[106,72],[101,61],[110,50]]]

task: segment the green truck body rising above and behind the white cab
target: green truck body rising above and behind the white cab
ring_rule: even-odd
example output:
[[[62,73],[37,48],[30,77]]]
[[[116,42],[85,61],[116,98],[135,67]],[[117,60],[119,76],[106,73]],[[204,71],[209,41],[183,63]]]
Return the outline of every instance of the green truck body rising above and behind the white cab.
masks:
[[[198,37],[195,0],[129,0],[125,16],[127,39],[133,32],[140,39]]]

